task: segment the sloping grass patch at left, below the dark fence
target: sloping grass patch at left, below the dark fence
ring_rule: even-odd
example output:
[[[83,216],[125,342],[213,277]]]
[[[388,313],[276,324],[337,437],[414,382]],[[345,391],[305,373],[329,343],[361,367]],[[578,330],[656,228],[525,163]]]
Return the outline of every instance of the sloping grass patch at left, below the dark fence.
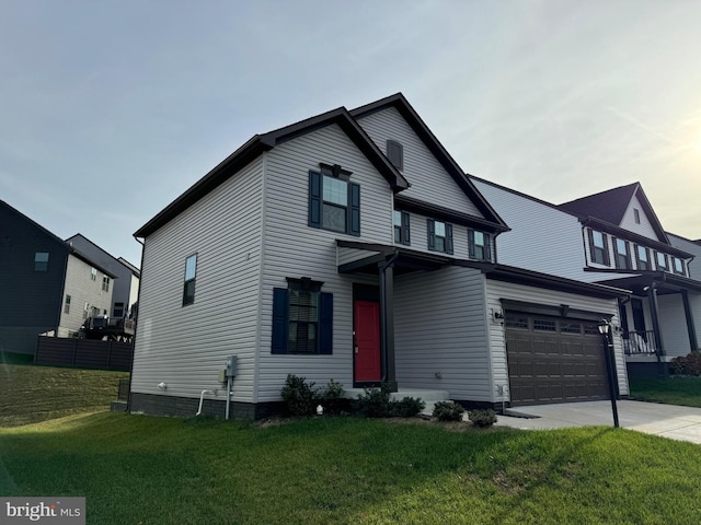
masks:
[[[0,363],[0,428],[105,410],[126,372]]]

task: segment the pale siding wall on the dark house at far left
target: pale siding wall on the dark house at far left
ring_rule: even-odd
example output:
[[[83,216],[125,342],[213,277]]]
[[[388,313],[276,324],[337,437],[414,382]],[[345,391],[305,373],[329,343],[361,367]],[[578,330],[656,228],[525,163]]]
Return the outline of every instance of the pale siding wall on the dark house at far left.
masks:
[[[102,279],[105,275],[97,270],[95,280],[92,280],[92,266],[71,255],[68,257],[66,269],[66,284],[64,288],[64,300],[61,303],[61,319],[58,328],[59,337],[69,337],[70,332],[78,331],[83,324],[84,312],[90,312],[91,307],[110,313],[112,311],[112,293],[114,280],[110,278],[110,290],[102,290]],[[70,295],[70,308],[66,314],[66,295]],[[88,305],[85,307],[85,304]]]

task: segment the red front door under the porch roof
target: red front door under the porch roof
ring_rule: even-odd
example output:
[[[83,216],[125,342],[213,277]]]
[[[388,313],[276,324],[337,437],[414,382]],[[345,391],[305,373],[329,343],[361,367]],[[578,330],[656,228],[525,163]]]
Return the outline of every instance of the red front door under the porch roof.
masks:
[[[355,381],[380,381],[380,304],[355,301]]]

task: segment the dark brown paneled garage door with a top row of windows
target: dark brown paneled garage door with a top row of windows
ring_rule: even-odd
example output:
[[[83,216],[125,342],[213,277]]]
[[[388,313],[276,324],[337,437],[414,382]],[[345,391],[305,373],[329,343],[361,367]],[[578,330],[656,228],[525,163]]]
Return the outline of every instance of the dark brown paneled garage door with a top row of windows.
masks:
[[[608,398],[595,323],[514,312],[505,317],[513,406]]]

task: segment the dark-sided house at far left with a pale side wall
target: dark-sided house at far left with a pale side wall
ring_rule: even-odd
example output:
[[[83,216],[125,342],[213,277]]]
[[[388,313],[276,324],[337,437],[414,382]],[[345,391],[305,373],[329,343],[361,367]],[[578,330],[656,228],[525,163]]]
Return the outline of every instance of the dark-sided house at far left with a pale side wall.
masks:
[[[115,275],[0,201],[0,351],[34,353],[39,334],[78,334],[106,314]]]

